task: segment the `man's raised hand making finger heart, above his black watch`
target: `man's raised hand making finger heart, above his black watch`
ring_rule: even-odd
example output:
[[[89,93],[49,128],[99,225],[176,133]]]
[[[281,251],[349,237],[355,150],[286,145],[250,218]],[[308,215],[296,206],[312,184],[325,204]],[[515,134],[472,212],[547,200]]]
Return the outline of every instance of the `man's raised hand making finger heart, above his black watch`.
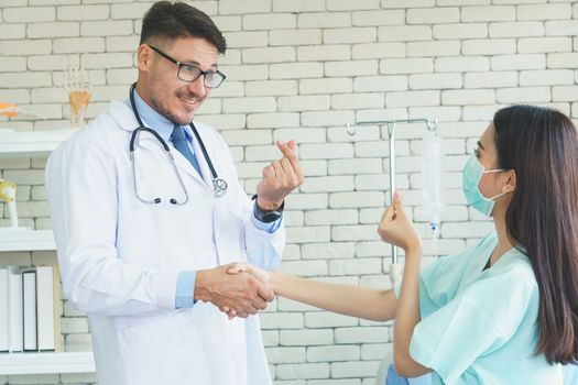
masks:
[[[303,184],[303,170],[294,141],[276,142],[283,157],[263,168],[263,179],[257,185],[257,205],[262,210],[276,210],[283,199]]]

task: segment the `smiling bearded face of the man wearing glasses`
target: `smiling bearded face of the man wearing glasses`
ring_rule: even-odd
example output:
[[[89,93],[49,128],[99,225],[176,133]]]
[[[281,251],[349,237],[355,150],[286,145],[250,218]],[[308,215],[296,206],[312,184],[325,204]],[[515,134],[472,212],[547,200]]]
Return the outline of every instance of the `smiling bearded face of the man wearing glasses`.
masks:
[[[178,65],[161,53],[201,70],[217,70],[217,47],[201,37],[179,37],[170,43],[142,44],[139,47],[139,96],[173,123],[188,124],[195,111],[210,94],[204,76],[188,82],[177,77]]]

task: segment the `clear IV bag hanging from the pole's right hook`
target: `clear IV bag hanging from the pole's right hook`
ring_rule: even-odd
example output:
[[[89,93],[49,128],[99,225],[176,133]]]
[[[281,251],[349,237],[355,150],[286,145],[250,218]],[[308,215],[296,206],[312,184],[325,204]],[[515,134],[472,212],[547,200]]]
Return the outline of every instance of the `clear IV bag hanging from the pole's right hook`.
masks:
[[[435,131],[427,131],[422,141],[422,195],[424,213],[434,232],[439,233],[441,210],[444,209],[444,153],[441,140]]]

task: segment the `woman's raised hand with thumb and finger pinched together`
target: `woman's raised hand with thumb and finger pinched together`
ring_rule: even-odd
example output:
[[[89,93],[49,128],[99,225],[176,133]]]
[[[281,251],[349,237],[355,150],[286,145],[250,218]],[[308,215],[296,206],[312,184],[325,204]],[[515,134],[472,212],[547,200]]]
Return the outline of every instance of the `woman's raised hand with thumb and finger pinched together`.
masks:
[[[393,202],[383,212],[378,234],[384,242],[402,248],[406,255],[410,251],[418,251],[422,248],[422,238],[415,230],[412,221],[407,219],[402,205],[402,196],[399,191],[393,194]]]

